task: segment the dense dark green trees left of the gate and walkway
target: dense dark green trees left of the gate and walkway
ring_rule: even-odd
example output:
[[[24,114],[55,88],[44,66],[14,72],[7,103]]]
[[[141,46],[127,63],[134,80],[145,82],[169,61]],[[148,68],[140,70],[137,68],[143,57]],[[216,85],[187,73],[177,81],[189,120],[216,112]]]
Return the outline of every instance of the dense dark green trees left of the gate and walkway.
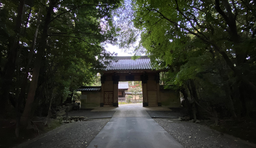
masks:
[[[60,104],[92,83],[114,39],[119,0],[1,0],[0,115],[9,99],[26,125],[33,106]],[[40,107],[40,106],[39,106]],[[36,107],[35,107],[36,108]]]

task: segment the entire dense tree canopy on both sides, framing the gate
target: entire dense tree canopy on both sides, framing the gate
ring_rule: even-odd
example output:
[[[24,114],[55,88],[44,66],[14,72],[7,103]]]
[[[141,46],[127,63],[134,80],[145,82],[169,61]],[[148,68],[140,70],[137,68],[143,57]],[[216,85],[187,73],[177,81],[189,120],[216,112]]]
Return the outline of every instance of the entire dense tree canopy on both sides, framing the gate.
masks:
[[[0,117],[9,100],[17,127],[26,126],[37,108],[98,85],[102,59],[111,56],[102,46],[134,48],[139,36],[135,54],[168,69],[162,81],[182,93],[189,110],[191,103],[214,117],[216,110],[250,115],[255,0],[0,0]]]

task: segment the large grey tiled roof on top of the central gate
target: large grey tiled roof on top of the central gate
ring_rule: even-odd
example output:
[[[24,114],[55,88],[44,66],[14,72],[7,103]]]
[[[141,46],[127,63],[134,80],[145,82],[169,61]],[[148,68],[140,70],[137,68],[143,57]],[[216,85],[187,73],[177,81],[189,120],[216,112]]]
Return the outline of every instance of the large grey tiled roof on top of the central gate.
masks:
[[[117,62],[112,62],[106,70],[134,70],[152,69],[148,56],[141,56],[139,59],[132,60],[131,56],[115,56]]]

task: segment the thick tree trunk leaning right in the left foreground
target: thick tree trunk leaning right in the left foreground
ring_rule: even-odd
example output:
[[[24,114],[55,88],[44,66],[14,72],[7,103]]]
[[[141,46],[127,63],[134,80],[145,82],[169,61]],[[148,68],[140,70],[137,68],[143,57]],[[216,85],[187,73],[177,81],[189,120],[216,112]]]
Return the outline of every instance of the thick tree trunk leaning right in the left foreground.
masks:
[[[22,117],[20,118],[21,126],[27,126],[27,122],[31,116],[31,109],[33,106],[34,95],[35,95],[35,91],[37,88],[37,81],[38,81],[38,77],[39,77],[39,73],[40,73],[42,56],[43,56],[44,50],[46,49],[46,45],[47,45],[47,37],[48,37],[47,31],[48,31],[49,24],[51,21],[51,14],[53,12],[53,9],[54,9],[54,2],[53,2],[53,0],[50,0],[49,7],[47,9],[47,15],[45,18],[45,24],[43,27],[43,32],[41,35],[41,41],[40,41],[39,48],[38,48],[37,54],[36,54],[36,59],[34,62],[33,75],[32,75],[32,80],[31,80],[31,84],[29,87],[29,92],[27,95],[27,102],[26,102]]]

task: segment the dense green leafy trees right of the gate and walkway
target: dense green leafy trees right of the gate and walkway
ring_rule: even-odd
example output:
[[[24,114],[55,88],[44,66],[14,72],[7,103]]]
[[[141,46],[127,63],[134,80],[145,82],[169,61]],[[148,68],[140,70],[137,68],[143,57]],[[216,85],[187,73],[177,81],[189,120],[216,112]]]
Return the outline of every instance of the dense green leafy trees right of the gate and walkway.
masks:
[[[133,8],[140,46],[155,68],[170,69],[167,84],[233,117],[252,110],[256,1],[136,0]]]

